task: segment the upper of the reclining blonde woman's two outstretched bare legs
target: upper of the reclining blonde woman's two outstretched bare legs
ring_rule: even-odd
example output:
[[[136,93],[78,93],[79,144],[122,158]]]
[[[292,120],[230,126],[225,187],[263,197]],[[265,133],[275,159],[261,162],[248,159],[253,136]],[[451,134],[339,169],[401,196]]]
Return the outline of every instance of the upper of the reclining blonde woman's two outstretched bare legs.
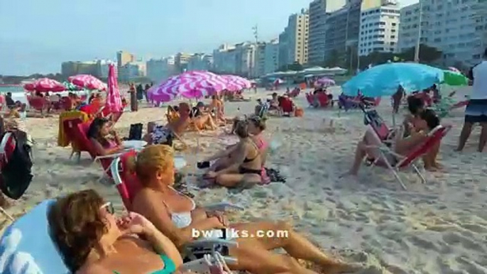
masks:
[[[255,241],[258,241],[268,251],[276,248],[284,248],[293,258],[316,263],[322,268],[327,269],[327,273],[346,273],[351,270],[358,270],[356,265],[349,265],[330,258],[305,237],[292,230],[292,227],[284,221],[232,224],[231,227],[237,231],[247,231],[250,235],[258,236],[237,239],[242,246],[256,246]],[[264,235],[260,235],[262,231],[265,232]],[[266,235],[269,231],[273,231],[273,237]]]

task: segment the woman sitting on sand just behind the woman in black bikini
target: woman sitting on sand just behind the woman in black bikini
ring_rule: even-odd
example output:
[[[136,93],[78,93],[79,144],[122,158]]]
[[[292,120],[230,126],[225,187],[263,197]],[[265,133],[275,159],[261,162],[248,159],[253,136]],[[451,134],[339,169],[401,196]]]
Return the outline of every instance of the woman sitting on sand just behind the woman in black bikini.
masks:
[[[262,119],[259,116],[251,116],[247,119],[248,121],[248,133],[250,133],[250,138],[253,143],[256,144],[258,148],[259,155],[261,157],[261,163],[264,165],[266,163],[266,155],[268,143],[263,137],[263,131],[266,130],[266,119]],[[226,150],[216,153],[209,158],[204,159],[199,166],[204,168],[204,166],[209,166],[209,162],[216,160],[215,163],[209,166],[209,171],[218,172],[225,168],[229,168],[234,164],[236,159],[236,148],[237,144],[229,146]],[[206,163],[206,164],[205,164]]]

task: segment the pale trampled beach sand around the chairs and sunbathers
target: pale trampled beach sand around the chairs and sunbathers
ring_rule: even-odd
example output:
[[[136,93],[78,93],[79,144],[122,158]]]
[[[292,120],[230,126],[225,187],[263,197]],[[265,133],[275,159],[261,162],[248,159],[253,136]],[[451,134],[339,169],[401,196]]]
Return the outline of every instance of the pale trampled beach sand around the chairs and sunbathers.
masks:
[[[270,92],[249,93],[253,99]],[[247,94],[246,94],[247,95]],[[248,95],[247,95],[248,96]],[[381,168],[362,168],[357,180],[340,179],[353,160],[356,143],[365,131],[361,111],[339,115],[338,108],[309,109],[303,94],[295,99],[305,109],[302,118],[270,118],[266,136],[282,146],[268,157],[287,182],[253,187],[243,192],[226,189],[192,191],[198,204],[229,201],[246,207],[232,212],[232,221],[275,219],[290,221],[297,231],[347,261],[364,263],[361,273],[487,273],[487,154],[476,153],[476,128],[463,153],[455,153],[463,109],[443,119],[452,124],[440,154],[443,172],[425,172],[422,185],[414,172],[402,172],[407,190]],[[255,101],[225,104],[227,114],[250,114]],[[390,103],[383,99],[378,111],[391,124]],[[405,110],[402,110],[403,112]],[[165,108],[141,108],[126,113],[116,128],[128,135],[130,124],[165,120]],[[333,126],[330,126],[333,119]],[[400,121],[402,116],[397,116]],[[7,211],[14,216],[43,199],[94,188],[123,210],[115,187],[102,185],[99,164],[82,155],[81,163],[68,160],[70,148],[56,146],[58,120],[28,119],[35,141],[35,175],[26,194]],[[145,127],[145,126],[144,126]],[[189,133],[189,151],[182,153],[195,170],[197,160],[214,153],[234,137],[219,132],[201,136]],[[199,146],[198,146],[199,144]],[[197,149],[198,148],[198,149]],[[194,177],[187,177],[194,183]],[[3,218],[3,217],[0,217]],[[0,224],[8,224],[0,219]]]

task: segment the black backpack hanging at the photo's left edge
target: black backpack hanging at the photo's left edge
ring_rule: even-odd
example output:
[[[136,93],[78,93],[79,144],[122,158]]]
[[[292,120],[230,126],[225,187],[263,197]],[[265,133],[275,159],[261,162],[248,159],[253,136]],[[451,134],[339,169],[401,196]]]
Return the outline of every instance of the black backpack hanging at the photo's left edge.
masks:
[[[0,143],[0,190],[19,199],[32,182],[31,141],[24,131],[7,131]]]

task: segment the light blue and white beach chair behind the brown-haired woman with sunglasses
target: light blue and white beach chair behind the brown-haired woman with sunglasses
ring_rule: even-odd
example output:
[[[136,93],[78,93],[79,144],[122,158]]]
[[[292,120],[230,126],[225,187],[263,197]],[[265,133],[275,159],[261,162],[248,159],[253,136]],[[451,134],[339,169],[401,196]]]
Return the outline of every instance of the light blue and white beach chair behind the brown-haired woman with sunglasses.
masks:
[[[52,199],[41,202],[5,229],[0,239],[0,273],[71,273],[50,235],[47,216],[53,202]],[[214,242],[214,245],[219,244],[216,240]],[[218,252],[217,248],[213,251],[212,255]],[[225,258],[225,262],[236,263],[236,259]],[[184,263],[182,268],[193,273],[210,273],[207,263],[201,258]]]

